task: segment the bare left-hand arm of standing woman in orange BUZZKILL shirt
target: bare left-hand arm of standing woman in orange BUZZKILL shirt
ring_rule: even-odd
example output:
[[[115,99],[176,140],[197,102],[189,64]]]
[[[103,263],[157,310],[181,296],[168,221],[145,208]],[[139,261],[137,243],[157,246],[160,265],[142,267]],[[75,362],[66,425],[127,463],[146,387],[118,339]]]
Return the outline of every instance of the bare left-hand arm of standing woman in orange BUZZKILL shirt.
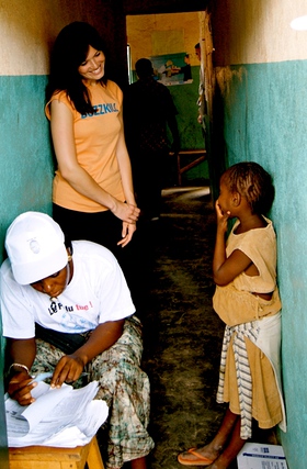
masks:
[[[135,223],[138,209],[124,203],[103,190],[78,164],[75,145],[72,114],[58,100],[50,103],[52,136],[61,176],[79,193],[110,209],[115,216],[126,223]]]

